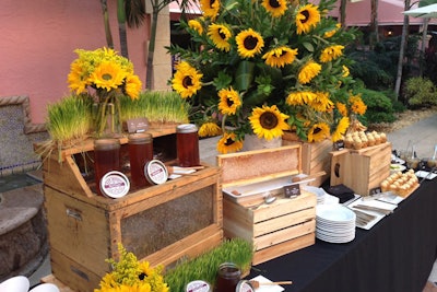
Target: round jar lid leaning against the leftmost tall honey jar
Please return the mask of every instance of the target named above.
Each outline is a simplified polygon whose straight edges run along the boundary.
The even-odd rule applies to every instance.
[[[101,190],[105,197],[118,199],[125,197],[129,189],[129,179],[120,172],[109,172],[101,179]]]

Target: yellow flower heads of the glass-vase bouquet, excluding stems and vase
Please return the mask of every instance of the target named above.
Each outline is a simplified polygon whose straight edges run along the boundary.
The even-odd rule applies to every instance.
[[[109,93],[119,91],[131,98],[138,98],[141,81],[133,73],[133,65],[114,49],[76,49],[79,58],[71,63],[68,83],[75,94],[87,93],[92,87]]]

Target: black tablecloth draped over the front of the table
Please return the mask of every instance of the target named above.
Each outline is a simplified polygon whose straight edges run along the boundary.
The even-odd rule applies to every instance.
[[[421,292],[437,257],[437,179],[355,240],[316,244],[252,267],[247,278],[292,280],[285,291]]]

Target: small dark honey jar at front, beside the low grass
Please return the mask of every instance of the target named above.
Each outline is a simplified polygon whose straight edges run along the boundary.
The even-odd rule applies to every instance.
[[[241,278],[241,271],[234,262],[223,262],[218,266],[214,292],[235,292]]]

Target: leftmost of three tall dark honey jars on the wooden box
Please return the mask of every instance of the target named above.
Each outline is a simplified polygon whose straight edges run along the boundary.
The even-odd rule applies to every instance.
[[[97,139],[94,141],[94,171],[97,195],[104,196],[101,180],[105,174],[120,171],[120,141],[118,139]]]

